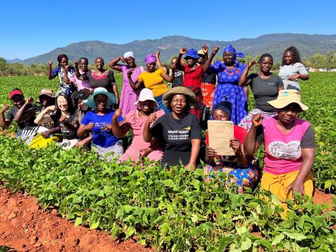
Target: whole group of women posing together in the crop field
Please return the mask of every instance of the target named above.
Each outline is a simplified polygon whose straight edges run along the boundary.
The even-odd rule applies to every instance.
[[[112,69],[123,72],[120,99],[113,71],[104,69],[104,59],[97,57],[96,69],[89,70],[85,57],[71,67],[66,55],[59,55],[59,66],[52,70],[50,61],[48,67],[48,77],[59,78],[56,96],[51,90],[42,90],[36,101],[40,106],[36,106],[31,97],[25,100],[21,90],[12,90],[9,97],[14,106],[6,116],[9,107],[3,106],[0,126],[6,129],[15,120],[18,137],[33,148],[57,141],[63,148],[92,148],[106,160],[147,157],[160,160],[162,167],[195,169],[202,142],[200,120],[206,107],[211,120],[234,123],[230,147],[235,153],[218,155],[207,136],[207,175],[225,172],[235,178],[241,190],[254,188],[261,173],[253,155],[264,144],[261,187],[283,201],[293,190],[312,195],[314,130],[297,118],[297,113],[307,110],[300,101],[298,79],[309,78],[299,52],[293,46],[283,52],[276,76],[271,72],[272,55],[262,55],[260,71],[248,75],[257,62],[241,64],[237,57],[243,55],[228,45],[223,61],[211,64],[218,50],[214,47],[208,56],[206,45],[199,51],[181,48],[168,67],[162,66],[160,52],[144,59],[146,67],[137,66],[133,52],[125,52],[109,62]],[[118,64],[120,61],[123,64]],[[174,78],[179,82],[174,83]],[[172,88],[165,81],[172,83]],[[249,114],[248,85],[255,98],[255,108]],[[132,143],[124,153],[121,139],[130,130]]]

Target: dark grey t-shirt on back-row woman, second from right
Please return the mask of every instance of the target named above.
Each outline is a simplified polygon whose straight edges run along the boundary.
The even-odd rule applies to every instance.
[[[251,73],[247,78],[252,80],[251,90],[255,99],[255,109],[276,112],[276,109],[268,102],[278,97],[278,88],[283,87],[281,78],[273,73],[267,79],[260,78],[257,73]]]

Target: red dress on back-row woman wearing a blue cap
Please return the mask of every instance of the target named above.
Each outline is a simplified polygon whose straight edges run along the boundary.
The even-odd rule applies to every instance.
[[[193,113],[195,116],[197,116],[198,120],[201,119],[202,104],[203,104],[203,97],[201,90],[202,77],[203,77],[202,66],[196,66],[195,69],[190,70],[189,66],[186,65],[184,70],[183,87],[188,87],[196,95],[196,104],[193,107],[193,109],[191,109],[190,113]]]

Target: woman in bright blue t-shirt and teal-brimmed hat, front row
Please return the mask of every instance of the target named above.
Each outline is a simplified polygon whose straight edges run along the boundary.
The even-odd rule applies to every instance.
[[[108,109],[116,104],[114,94],[109,93],[104,87],[97,87],[85,103],[93,110],[85,114],[77,131],[78,137],[83,137],[92,130],[92,150],[108,161],[123,154],[123,142],[112,132],[111,123],[114,111]],[[118,122],[122,120],[120,116]]]

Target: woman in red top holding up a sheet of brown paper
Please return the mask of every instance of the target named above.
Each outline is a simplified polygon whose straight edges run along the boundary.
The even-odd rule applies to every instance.
[[[220,102],[214,106],[212,112],[213,120],[231,120],[232,104],[230,102]],[[260,179],[260,170],[251,164],[253,156],[246,157],[243,151],[243,143],[246,137],[246,130],[237,125],[233,125],[234,139],[230,140],[230,145],[235,151],[233,156],[217,155],[216,150],[209,146],[209,137],[205,139],[207,148],[205,149],[204,172],[209,175],[211,172],[225,172],[233,176],[239,186],[239,192],[244,191],[244,187],[255,188]],[[215,160],[217,159],[217,161]]]

